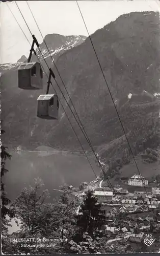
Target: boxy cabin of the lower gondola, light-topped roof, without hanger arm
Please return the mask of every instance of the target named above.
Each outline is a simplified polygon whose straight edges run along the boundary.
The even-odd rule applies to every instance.
[[[40,95],[37,101],[38,117],[43,119],[58,119],[59,100],[56,94]]]

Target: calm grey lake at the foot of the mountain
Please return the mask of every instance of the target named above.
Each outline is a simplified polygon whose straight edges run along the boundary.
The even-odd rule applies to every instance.
[[[34,178],[41,177],[44,189],[50,193],[50,200],[57,195],[53,189],[58,189],[64,183],[78,187],[81,182],[95,180],[95,175],[85,156],[49,149],[48,151],[9,151],[11,160],[7,160],[4,182],[8,198],[13,201],[24,187],[34,184]],[[89,157],[96,175],[100,169],[93,156]],[[10,232],[16,231],[16,225]]]

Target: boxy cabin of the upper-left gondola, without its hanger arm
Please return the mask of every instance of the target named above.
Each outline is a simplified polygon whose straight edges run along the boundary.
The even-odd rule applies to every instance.
[[[24,90],[43,89],[43,72],[39,62],[26,62],[19,66],[18,87]]]

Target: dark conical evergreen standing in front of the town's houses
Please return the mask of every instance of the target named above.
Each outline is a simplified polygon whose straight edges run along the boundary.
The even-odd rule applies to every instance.
[[[90,236],[93,236],[94,231],[104,225],[105,216],[101,214],[100,208],[101,204],[98,204],[93,193],[88,191],[77,216],[77,226],[81,228],[82,234],[88,232]]]

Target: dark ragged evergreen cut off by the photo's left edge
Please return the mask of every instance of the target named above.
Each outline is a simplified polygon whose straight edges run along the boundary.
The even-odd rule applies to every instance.
[[[4,134],[5,131],[1,129],[1,134]],[[7,206],[11,201],[6,196],[5,184],[3,182],[4,175],[8,172],[8,169],[5,168],[6,160],[11,159],[11,155],[6,151],[7,147],[1,144],[1,218],[2,218],[2,233],[5,235],[8,231],[9,220],[6,219],[7,216],[10,218],[14,217],[14,213]]]

